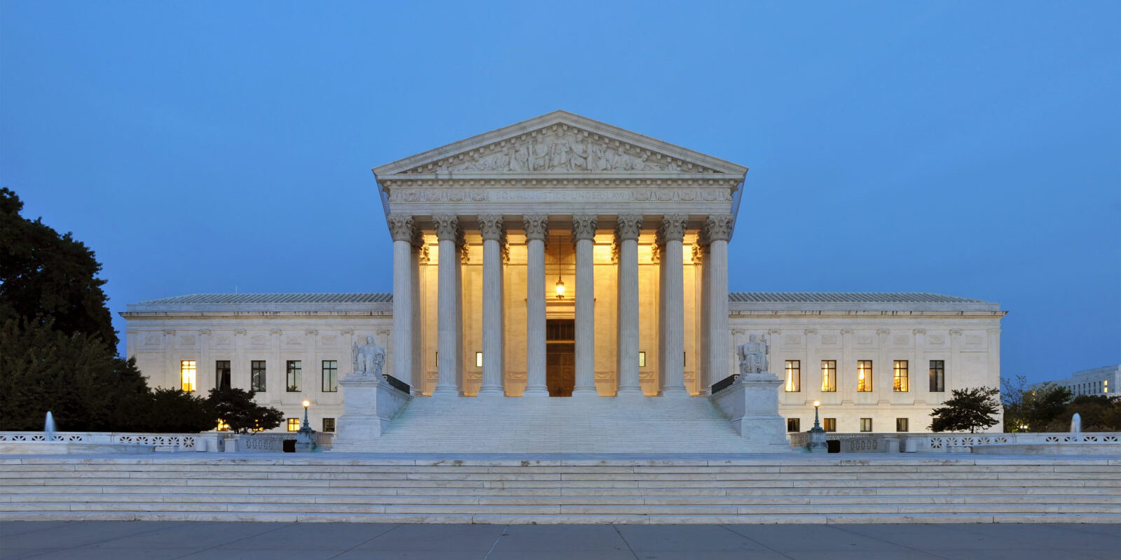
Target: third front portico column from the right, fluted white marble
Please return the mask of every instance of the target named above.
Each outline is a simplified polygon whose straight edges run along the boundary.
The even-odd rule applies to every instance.
[[[641,214],[620,214],[615,225],[619,252],[619,396],[642,394],[638,376],[638,234]]]

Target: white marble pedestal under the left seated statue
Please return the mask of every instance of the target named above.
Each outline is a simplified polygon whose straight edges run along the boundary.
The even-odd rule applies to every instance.
[[[348,375],[343,391],[343,414],[332,451],[374,451],[389,422],[413,400],[380,375]]]

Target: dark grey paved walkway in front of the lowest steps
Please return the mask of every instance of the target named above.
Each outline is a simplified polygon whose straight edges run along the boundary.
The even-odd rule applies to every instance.
[[[21,558],[1117,560],[1121,525],[0,523],[0,559]]]

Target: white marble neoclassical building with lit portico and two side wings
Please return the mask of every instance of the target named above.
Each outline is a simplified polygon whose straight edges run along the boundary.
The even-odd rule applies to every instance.
[[[373,169],[393,240],[391,295],[129,305],[127,352],[156,385],[254,389],[290,418],[308,400],[313,428],[327,431],[368,336],[387,351],[382,373],[409,385],[397,409],[708,401],[740,373],[735,349],[752,335],[768,344],[784,430],[813,426],[819,401],[827,430],[926,431],[952,389],[999,385],[997,304],[730,292],[751,288],[729,274],[730,259],[748,258],[730,249],[747,170],[553,112]]]

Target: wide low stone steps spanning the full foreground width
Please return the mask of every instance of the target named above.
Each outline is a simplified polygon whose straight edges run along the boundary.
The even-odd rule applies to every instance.
[[[1121,459],[9,456],[0,521],[11,520],[1117,523]]]

